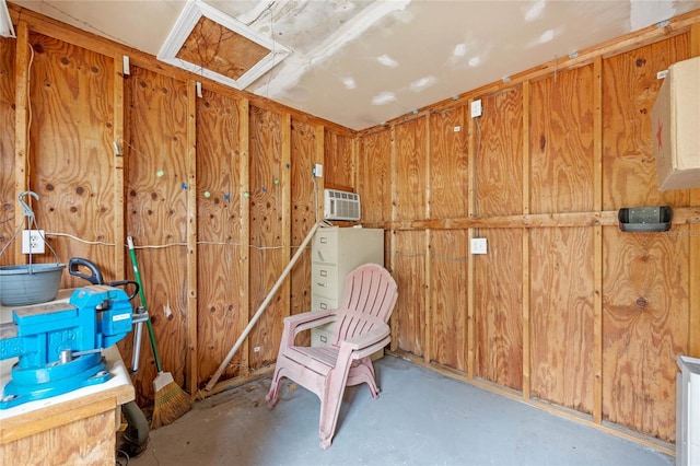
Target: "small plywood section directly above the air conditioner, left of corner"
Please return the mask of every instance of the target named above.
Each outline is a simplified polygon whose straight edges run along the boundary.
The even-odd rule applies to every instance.
[[[326,129],[324,140],[324,178],[326,184],[355,190],[354,138]],[[364,199],[361,201],[363,202]]]

